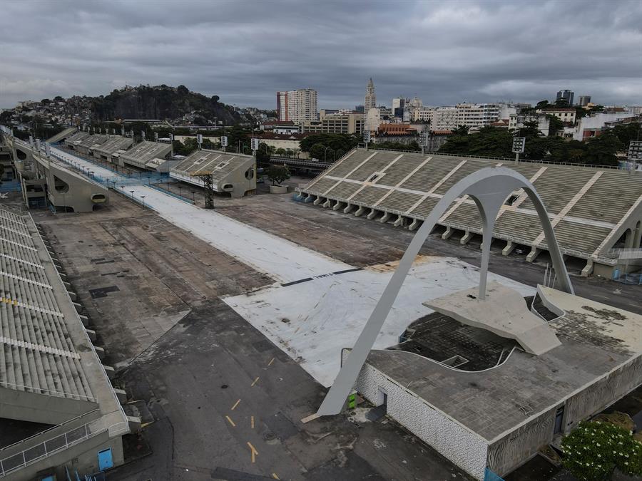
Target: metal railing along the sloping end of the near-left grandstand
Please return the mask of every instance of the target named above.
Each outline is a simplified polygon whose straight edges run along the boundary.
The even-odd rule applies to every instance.
[[[59,428],[60,426],[61,425],[58,425],[52,429]],[[33,440],[34,438],[38,438],[39,436],[46,437],[46,433],[48,432],[49,431],[44,431],[43,433],[39,433],[35,436],[32,436],[31,438],[28,438],[27,440]],[[73,428],[66,431],[65,433],[56,435],[53,438],[46,439],[41,443],[31,446],[31,448],[27,448],[26,450],[22,450],[21,452],[18,452],[14,455],[5,457],[4,459],[0,459],[0,477],[9,475],[11,474],[11,472],[20,470],[23,467],[33,464],[34,462],[38,462],[39,460],[56,454],[56,452],[71,448],[71,446],[73,445],[82,443],[84,440],[88,440],[89,438],[93,438],[102,433],[108,433],[108,435],[111,437],[128,432],[129,427],[125,421],[107,426],[105,418],[93,420],[90,423],[78,426],[78,428]],[[27,440],[23,440],[21,441],[21,443],[24,443]],[[15,445],[11,445],[7,448],[11,448],[12,446]],[[4,448],[4,450],[6,450],[7,448]]]

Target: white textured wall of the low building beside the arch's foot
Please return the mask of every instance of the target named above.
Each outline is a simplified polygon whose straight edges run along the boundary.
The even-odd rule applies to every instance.
[[[478,480],[484,479],[487,443],[444,413],[435,410],[366,363],[357,378],[357,391],[377,404],[379,388],[387,391],[387,413],[444,457]]]

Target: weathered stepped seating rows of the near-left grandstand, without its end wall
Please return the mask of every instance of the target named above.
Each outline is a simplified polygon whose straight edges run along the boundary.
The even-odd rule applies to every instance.
[[[29,232],[21,217],[6,210],[0,210],[0,216]],[[91,398],[34,239],[13,231],[3,234],[9,235],[0,239],[0,387]]]

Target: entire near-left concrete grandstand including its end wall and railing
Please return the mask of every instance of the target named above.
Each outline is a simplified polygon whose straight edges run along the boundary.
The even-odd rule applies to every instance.
[[[131,419],[57,269],[31,217],[0,209],[0,415],[54,425],[2,447],[0,478],[34,479],[73,458],[93,469],[103,449],[123,461]]]

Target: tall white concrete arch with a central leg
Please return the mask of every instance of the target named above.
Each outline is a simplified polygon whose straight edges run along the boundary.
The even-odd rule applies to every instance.
[[[390,309],[392,309],[392,304],[394,300],[397,299],[399,289],[401,289],[404,279],[412,267],[412,262],[414,258],[417,257],[417,254],[419,254],[419,249],[422,248],[422,245],[428,238],[430,232],[432,232],[439,218],[442,217],[442,214],[446,212],[457,197],[461,197],[462,195],[472,197],[481,214],[484,246],[481,250],[479,298],[485,299],[486,278],[488,277],[488,262],[495,219],[506,197],[509,197],[512,192],[519,188],[524,189],[535,206],[544,230],[544,235],[546,236],[546,244],[548,244],[561,289],[574,294],[571,279],[569,278],[568,271],[566,271],[564,259],[562,258],[559,244],[557,243],[555,232],[549,219],[549,214],[546,212],[544,202],[542,202],[541,197],[539,197],[531,182],[523,175],[506,167],[486,167],[477,172],[473,172],[471,175],[457,182],[457,184],[444,194],[432,212],[430,212],[422,224],[422,227],[419,227],[419,230],[417,230],[417,234],[414,235],[401,261],[399,261],[399,267],[394,271],[392,279],[390,279],[381,298],[374,307],[370,319],[368,319],[365,324],[355,346],[352,348],[352,351],[350,351],[337,378],[335,378],[335,382],[332,384],[330,391],[325,396],[319,410],[317,410],[317,415],[334,415],[341,412],[345,400],[352,390],[352,386],[354,386],[357,381],[357,376],[359,376],[359,372],[366,361],[368,353],[370,353],[372,346],[374,346],[374,341],[376,341],[379,331],[381,331],[384,321]]]

